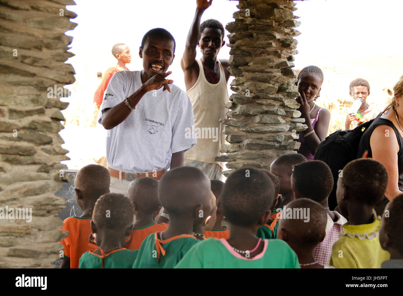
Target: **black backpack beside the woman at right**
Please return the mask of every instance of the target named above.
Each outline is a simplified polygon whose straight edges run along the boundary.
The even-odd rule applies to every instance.
[[[328,198],[331,211],[337,207],[336,189],[339,174],[346,164],[357,159],[359,141],[372,121],[374,120],[359,124],[352,130],[337,130],[327,136],[316,149],[314,160],[326,162],[333,175],[333,190]]]

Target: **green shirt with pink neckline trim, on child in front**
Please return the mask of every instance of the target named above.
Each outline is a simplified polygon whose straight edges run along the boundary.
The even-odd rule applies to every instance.
[[[246,259],[223,238],[193,246],[175,268],[300,268],[297,254],[283,240],[262,240],[262,253]]]

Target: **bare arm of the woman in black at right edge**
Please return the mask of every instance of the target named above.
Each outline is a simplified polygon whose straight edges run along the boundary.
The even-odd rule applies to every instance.
[[[399,143],[395,135],[393,128],[388,125],[380,125],[374,129],[370,138],[372,158],[381,162],[388,170],[389,179],[385,196],[390,201],[402,193],[398,186],[397,152]]]

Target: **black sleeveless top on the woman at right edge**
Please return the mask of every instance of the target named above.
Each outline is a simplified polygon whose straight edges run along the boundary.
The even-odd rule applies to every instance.
[[[395,124],[388,119],[381,118],[381,114],[379,114],[372,124],[364,131],[364,134],[361,137],[361,141],[358,146],[358,158],[361,158],[366,150],[368,150],[368,157],[372,157],[372,150],[370,146],[370,138],[374,129],[382,124],[388,125],[395,131],[395,135],[397,137],[397,142],[399,143],[399,152],[397,152],[397,169],[399,173],[399,181],[398,186],[399,190],[403,191],[403,138],[399,133],[399,130],[395,127]],[[393,134],[390,135],[393,137]]]

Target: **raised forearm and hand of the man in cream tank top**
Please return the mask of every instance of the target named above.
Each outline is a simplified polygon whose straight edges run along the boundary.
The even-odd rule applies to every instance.
[[[212,4],[213,0],[196,0],[196,12],[193,18],[193,23],[190,27],[189,33],[187,34],[185,52],[181,58],[181,67],[183,71],[186,71],[196,59],[196,46],[199,41],[200,34],[200,19],[202,19],[202,14]]]

